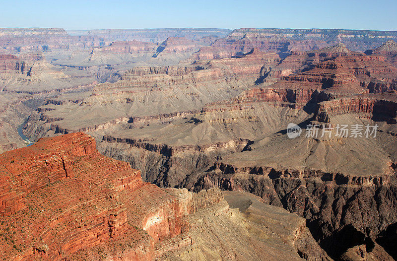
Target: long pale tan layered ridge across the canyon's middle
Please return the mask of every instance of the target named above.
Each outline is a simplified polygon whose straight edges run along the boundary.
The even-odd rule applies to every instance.
[[[28,128],[38,129],[38,124],[44,124],[40,132],[51,130],[66,133],[87,130],[82,128],[92,130],[95,126],[107,123],[111,127],[114,125],[111,124],[113,120],[127,122],[132,116],[196,111],[205,103],[236,96],[255,83],[264,67],[277,63],[275,54],[254,50],[241,57],[216,61],[133,68],[115,83],[96,85],[92,94],[80,104],[68,103],[71,107],[78,108],[81,118],[69,118],[67,112],[62,112],[66,104],[48,104],[45,106],[47,109],[40,110],[40,115],[32,115]],[[108,109],[103,110],[103,106]],[[104,113],[92,117],[92,114],[99,111]],[[41,120],[33,122],[33,119]],[[87,126],[84,119],[90,119],[90,126]],[[45,135],[44,132],[36,132],[36,135]]]

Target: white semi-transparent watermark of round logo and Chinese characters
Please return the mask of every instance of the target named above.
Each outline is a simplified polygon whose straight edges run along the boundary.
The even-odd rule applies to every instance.
[[[378,125],[347,125],[347,124],[337,124],[336,126],[325,125],[325,124],[309,124],[306,126],[305,137],[307,138],[357,138],[357,137],[376,137],[378,130]],[[287,126],[287,135],[289,138],[296,138],[300,136],[302,129],[293,123]]]

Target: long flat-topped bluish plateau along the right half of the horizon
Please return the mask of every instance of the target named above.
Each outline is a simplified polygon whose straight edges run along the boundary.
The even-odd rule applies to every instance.
[[[230,57],[258,48],[263,52],[276,52],[282,55],[290,51],[309,51],[345,44],[350,50],[364,52],[373,49],[387,40],[397,40],[396,32],[339,30],[339,29],[235,29],[227,37],[203,47],[195,55],[196,59]]]

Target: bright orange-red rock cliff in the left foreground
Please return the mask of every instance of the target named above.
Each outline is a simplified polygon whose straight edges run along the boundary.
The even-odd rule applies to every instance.
[[[43,138],[0,155],[0,258],[151,260],[154,243],[189,230],[189,213],[223,199],[208,194],[187,200],[143,183],[87,134]]]

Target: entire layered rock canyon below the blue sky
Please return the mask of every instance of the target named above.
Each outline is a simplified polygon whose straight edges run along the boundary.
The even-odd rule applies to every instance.
[[[4,259],[397,259],[396,32],[0,32]]]

